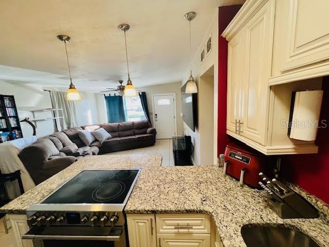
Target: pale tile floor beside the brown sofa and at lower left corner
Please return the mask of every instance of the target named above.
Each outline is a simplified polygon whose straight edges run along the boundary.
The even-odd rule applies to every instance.
[[[172,139],[159,139],[156,140],[155,145],[152,147],[119,151],[111,154],[143,154],[143,153],[160,154],[162,156],[161,166],[164,167],[174,166]],[[3,219],[0,219],[0,245],[6,247],[16,247],[13,241],[11,228],[9,229],[8,234],[5,233]]]

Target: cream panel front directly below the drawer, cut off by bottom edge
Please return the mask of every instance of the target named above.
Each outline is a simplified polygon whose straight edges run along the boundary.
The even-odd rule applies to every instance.
[[[158,234],[158,247],[209,247],[210,234]]]

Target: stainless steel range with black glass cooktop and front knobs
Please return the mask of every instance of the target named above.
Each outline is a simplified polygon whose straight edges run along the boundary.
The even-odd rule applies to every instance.
[[[84,170],[27,210],[35,245],[126,246],[124,206],[140,169]]]

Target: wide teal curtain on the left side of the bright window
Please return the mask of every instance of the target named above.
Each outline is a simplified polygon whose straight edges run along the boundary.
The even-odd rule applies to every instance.
[[[106,104],[106,115],[107,115],[108,122],[124,122],[125,121],[122,96],[120,96],[120,95],[105,96],[105,104]]]

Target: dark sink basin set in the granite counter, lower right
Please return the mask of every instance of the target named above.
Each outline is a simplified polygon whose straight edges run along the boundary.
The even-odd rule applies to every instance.
[[[320,247],[302,232],[283,225],[247,224],[241,234],[247,247]]]

